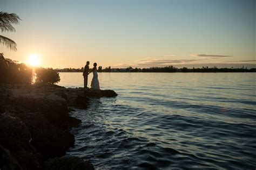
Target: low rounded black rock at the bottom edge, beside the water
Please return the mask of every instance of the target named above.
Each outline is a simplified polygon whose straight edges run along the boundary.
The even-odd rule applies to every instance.
[[[50,159],[44,163],[45,170],[93,170],[92,164],[78,157],[63,157]]]

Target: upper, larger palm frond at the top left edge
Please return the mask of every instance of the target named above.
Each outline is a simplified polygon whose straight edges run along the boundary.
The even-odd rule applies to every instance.
[[[5,31],[15,31],[15,28],[12,26],[12,24],[18,24],[19,16],[17,16],[15,13],[8,13],[8,12],[0,12],[0,29],[2,32]]]

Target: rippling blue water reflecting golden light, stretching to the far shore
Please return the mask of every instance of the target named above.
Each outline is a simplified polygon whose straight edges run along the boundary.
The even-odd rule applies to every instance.
[[[60,86],[83,87],[82,73]],[[91,80],[91,77],[89,77]],[[102,89],[71,115],[69,155],[96,169],[255,169],[255,73],[99,73]]]

